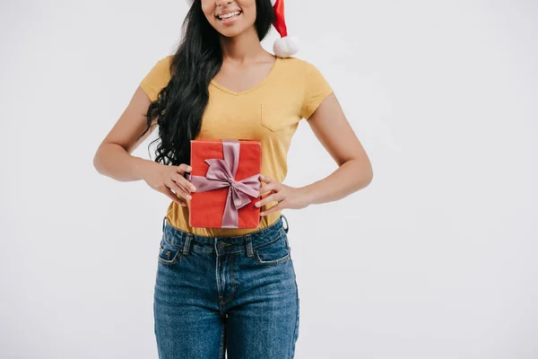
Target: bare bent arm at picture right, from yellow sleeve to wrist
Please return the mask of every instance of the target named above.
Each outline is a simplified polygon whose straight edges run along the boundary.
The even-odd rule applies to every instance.
[[[368,186],[373,178],[369,157],[334,93],[308,118],[308,124],[339,166],[325,179],[299,188],[308,204],[335,201]]]

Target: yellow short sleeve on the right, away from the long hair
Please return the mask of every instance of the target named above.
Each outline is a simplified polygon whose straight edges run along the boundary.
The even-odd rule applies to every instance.
[[[333,88],[326,81],[325,76],[313,64],[305,61],[305,92],[300,117],[308,119],[319,107],[321,102],[333,92]]]

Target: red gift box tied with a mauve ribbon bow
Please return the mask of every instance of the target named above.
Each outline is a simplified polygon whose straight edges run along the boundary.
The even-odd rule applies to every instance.
[[[189,225],[256,228],[260,223],[262,145],[256,140],[192,140]]]

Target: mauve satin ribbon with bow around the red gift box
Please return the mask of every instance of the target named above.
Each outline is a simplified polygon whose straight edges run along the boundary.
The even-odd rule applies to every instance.
[[[262,185],[259,180],[260,173],[244,180],[235,180],[239,167],[239,146],[239,140],[222,140],[223,160],[220,158],[205,160],[209,164],[205,176],[187,174],[187,180],[195,185],[196,192],[229,188],[221,228],[239,228],[239,209],[251,202],[249,196],[260,195]]]

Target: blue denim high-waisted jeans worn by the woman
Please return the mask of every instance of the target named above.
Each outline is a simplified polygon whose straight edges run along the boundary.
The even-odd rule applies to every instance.
[[[153,306],[160,359],[293,358],[299,291],[282,218],[234,237],[198,236],[164,218]]]

